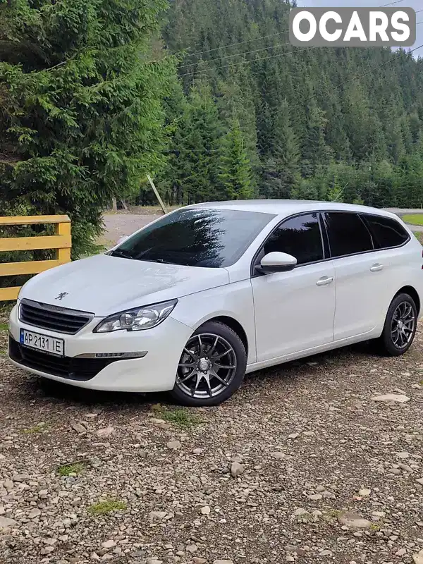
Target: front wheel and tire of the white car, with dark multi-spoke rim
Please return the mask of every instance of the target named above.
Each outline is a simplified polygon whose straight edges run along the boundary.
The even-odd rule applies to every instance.
[[[219,405],[238,390],[246,367],[240,336],[219,321],[207,321],[183,349],[171,396],[180,405]]]

